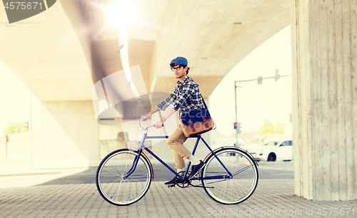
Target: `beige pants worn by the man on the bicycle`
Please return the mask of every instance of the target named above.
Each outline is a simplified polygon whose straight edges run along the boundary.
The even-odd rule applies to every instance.
[[[175,133],[170,135],[167,139],[167,145],[169,145],[174,152],[175,164],[177,169],[185,167],[185,161],[187,157],[191,155],[191,152],[183,146],[183,142],[186,142],[187,137],[183,134],[181,127],[178,125]]]

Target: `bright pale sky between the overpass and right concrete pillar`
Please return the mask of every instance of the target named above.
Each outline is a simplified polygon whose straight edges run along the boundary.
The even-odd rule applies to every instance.
[[[292,68],[290,26],[276,33],[258,46],[238,63],[209,97],[209,110],[217,124],[218,132],[223,135],[235,133],[234,81],[245,81],[274,77],[278,73],[288,75],[275,79],[236,83],[238,123],[245,132],[258,130],[266,120],[269,123],[290,123],[292,109]]]

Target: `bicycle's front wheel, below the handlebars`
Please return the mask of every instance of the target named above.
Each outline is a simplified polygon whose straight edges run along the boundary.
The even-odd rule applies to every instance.
[[[124,179],[137,156],[137,151],[121,149],[101,161],[96,172],[96,187],[107,202],[118,206],[133,204],[149,190],[152,172],[144,155],[140,155],[135,171]]]

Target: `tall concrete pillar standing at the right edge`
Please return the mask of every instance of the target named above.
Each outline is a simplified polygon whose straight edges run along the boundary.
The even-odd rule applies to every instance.
[[[295,193],[357,199],[357,1],[291,1]]]

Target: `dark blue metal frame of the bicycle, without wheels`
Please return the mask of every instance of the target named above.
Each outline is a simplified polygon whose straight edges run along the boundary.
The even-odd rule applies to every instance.
[[[124,177],[124,180],[129,177],[136,169],[136,165],[138,164],[139,162],[139,158],[141,156],[141,152],[143,150],[143,148],[149,152],[153,157],[156,158],[156,160],[159,160],[159,162],[161,162],[161,164],[163,164],[167,169],[169,169],[171,172],[174,173],[174,175],[176,175],[177,177],[179,177],[181,180],[186,180],[186,175],[187,175],[187,172],[188,172],[188,169],[191,165],[191,162],[188,162],[188,165],[186,167],[186,171],[184,172],[183,176],[181,175],[178,175],[178,173],[173,170],[169,165],[166,164],[166,162],[164,162],[163,160],[160,159],[160,157],[156,156],[154,154],[154,152],[152,152],[151,150],[149,150],[149,148],[145,147],[144,145],[144,142],[146,139],[159,139],[159,138],[168,138],[169,136],[148,136],[147,135],[147,132],[144,133],[144,136],[143,136],[143,139],[141,140],[141,144],[139,146],[139,155],[137,155],[135,158],[134,158],[134,162],[133,162],[133,165],[131,165],[131,168],[128,170],[126,176]],[[195,178],[191,178],[190,180],[216,180],[216,179],[229,179],[229,178],[233,178],[233,175],[231,174],[231,172],[229,172],[229,170],[226,168],[225,165],[223,165],[223,163],[221,162],[221,160],[219,160],[219,158],[217,157],[216,153],[213,152],[213,150],[211,149],[211,147],[209,147],[209,145],[207,144],[207,142],[203,139],[203,137],[201,137],[201,135],[196,135],[196,136],[193,136],[193,137],[196,137],[197,140],[196,140],[196,144],[195,144],[195,147],[193,147],[193,151],[192,151],[192,155],[195,154],[196,152],[196,148],[198,146],[198,142],[200,140],[202,140],[202,142],[206,145],[206,147],[208,148],[208,150],[210,150],[210,152],[216,157],[216,159],[218,160],[218,162],[222,165],[222,167],[224,168],[224,170],[226,170],[226,172],[228,173],[228,175],[221,175],[221,176],[211,176],[211,177],[195,177]]]

